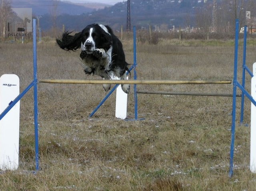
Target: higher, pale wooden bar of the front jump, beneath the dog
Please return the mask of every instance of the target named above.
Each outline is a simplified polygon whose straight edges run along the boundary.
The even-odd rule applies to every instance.
[[[231,84],[231,80],[74,80],[42,79],[38,83],[62,84]]]

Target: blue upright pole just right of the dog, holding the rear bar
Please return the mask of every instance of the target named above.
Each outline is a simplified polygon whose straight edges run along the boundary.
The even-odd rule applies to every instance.
[[[133,65],[134,65],[134,80],[137,79],[136,73],[136,26],[133,26]],[[134,119],[138,120],[138,99],[137,99],[137,85],[134,84]]]

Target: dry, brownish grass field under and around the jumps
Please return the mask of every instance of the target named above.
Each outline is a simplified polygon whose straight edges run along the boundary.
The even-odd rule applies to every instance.
[[[256,61],[255,40],[247,64]],[[132,41],[123,41],[133,62]],[[79,52],[54,41],[38,44],[39,79],[87,77]],[[241,80],[242,43],[239,47]],[[232,79],[233,41],[160,39],[138,44],[138,79]],[[0,75],[20,77],[21,91],[32,81],[32,43],[0,43]],[[250,78],[246,87],[250,89]],[[131,77],[133,75],[131,74]],[[138,90],[232,93],[232,85],[138,85]],[[240,93],[238,91],[238,93]],[[33,94],[20,104],[20,167],[0,174],[0,190],[88,191],[254,191],[250,163],[250,102],[244,122],[237,119],[234,176],[228,177],[231,97],[138,95],[139,121],[115,118],[115,96],[88,118],[106,95],[101,85],[39,84],[40,171],[35,169]],[[133,91],[128,118],[134,116]],[[240,114],[240,98],[237,104]]]

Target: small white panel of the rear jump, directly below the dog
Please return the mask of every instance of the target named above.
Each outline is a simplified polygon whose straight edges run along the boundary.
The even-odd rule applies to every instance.
[[[120,80],[114,76],[112,79]],[[128,79],[128,76],[127,76]],[[127,116],[127,93],[124,93],[121,85],[116,88],[116,118],[125,119]]]

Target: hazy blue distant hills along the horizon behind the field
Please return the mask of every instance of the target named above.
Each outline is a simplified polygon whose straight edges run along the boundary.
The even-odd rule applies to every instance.
[[[200,17],[212,17],[212,1],[213,0],[131,0],[131,23],[132,26],[136,25],[137,29],[148,29],[150,25],[153,30],[159,28],[159,30],[162,31],[172,29],[174,26],[175,28],[179,26],[196,26],[196,20],[198,20],[198,17],[196,18],[197,12],[201,12]],[[218,9],[222,10],[222,8],[225,8],[226,11],[222,11],[223,20],[233,15],[233,1],[230,0],[230,3],[226,4],[226,0],[217,0]],[[245,0],[245,2],[249,1],[252,0]],[[53,3],[55,1],[33,1],[35,5],[42,2],[48,2],[49,5],[50,2]],[[64,5],[62,6],[62,4]],[[95,6],[100,7],[99,5]],[[102,6],[102,9],[98,10],[95,9],[95,6],[90,6],[89,8],[88,4],[81,5],[59,2],[57,5],[57,12],[59,13],[56,18],[57,27],[62,28],[64,24],[68,30],[79,31],[88,24],[100,23],[111,26],[114,31],[120,30],[122,25],[124,26],[124,30],[126,29],[127,1],[116,3],[114,6],[104,6],[104,8],[102,8]],[[46,5],[45,7],[47,8]],[[73,14],[71,14],[71,12]],[[202,14],[202,12],[204,12],[204,14]],[[204,21],[206,20],[205,18],[203,19]],[[40,20],[42,30],[49,30],[52,27],[51,22],[50,13],[45,14]]]

